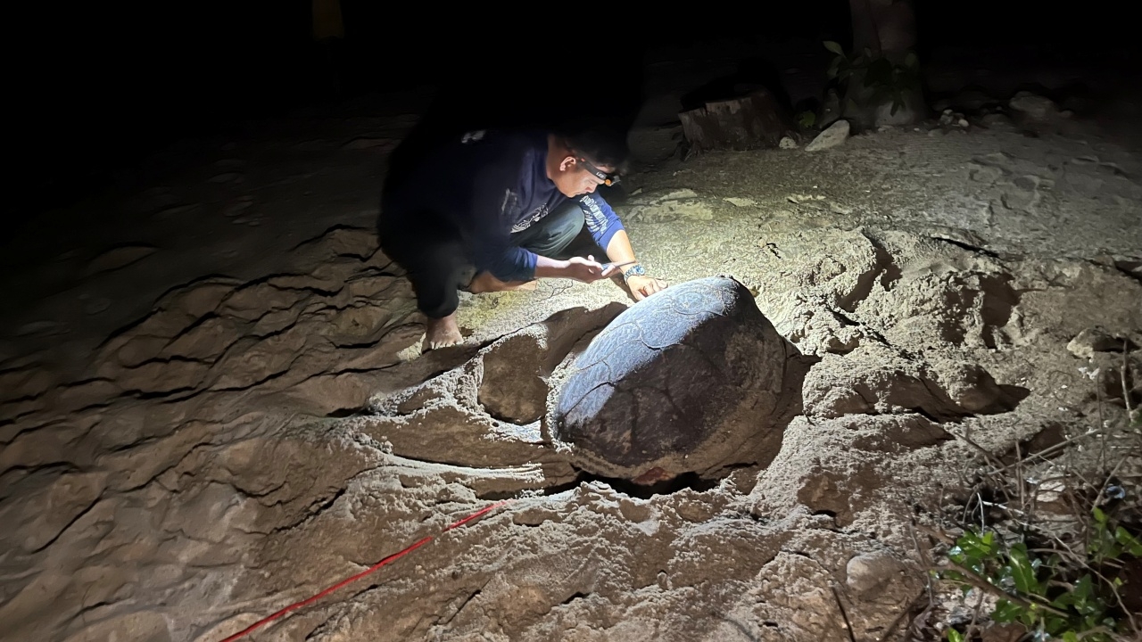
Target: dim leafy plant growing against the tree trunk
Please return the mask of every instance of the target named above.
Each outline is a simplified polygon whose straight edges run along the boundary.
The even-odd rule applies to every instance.
[[[909,51],[903,61],[894,63],[871,49],[846,54],[841,43],[825,41],[825,48],[836,55],[829,65],[829,78],[849,87],[856,79],[869,91],[867,101],[879,105],[892,102],[892,114],[907,105],[909,96],[920,88],[920,63]],[[853,95],[849,91],[850,96]],[[852,99],[852,98],[850,98]]]

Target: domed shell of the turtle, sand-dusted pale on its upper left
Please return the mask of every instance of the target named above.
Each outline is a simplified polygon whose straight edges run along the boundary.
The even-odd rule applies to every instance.
[[[775,336],[733,279],[662,290],[617,316],[578,358],[554,435],[626,467],[693,452],[748,395],[758,368],[772,367]]]

